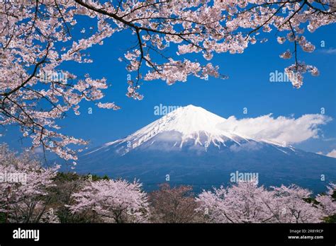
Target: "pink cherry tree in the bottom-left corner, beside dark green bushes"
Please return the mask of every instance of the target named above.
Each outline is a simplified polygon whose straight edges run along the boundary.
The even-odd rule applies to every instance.
[[[58,222],[48,207],[58,168],[43,168],[28,151],[16,156],[7,146],[0,146],[0,212],[6,222]]]

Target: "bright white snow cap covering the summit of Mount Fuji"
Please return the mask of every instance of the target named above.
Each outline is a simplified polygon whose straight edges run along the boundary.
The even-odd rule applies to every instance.
[[[223,131],[218,125],[226,119],[208,112],[202,107],[188,105],[178,107],[177,110],[169,112],[155,122],[148,124],[146,127],[135,131],[135,133],[111,143],[112,144],[128,143],[133,148],[140,146],[142,143],[152,139],[158,134],[177,132],[180,134],[180,141],[176,142],[180,147],[186,141],[194,141],[194,144],[207,146],[213,143],[220,147],[225,145],[225,141],[232,140],[239,144],[238,139],[244,139],[233,132]],[[169,134],[168,134],[169,136]],[[246,139],[245,139],[246,140]]]

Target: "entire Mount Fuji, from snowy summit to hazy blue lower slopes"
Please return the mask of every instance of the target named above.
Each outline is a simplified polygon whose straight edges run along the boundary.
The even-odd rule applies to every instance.
[[[294,183],[323,192],[336,180],[336,158],[225,131],[219,117],[189,105],[123,139],[79,156],[76,171],[139,179],[145,189],[169,181],[194,189],[228,185],[233,173],[257,173],[262,185]]]

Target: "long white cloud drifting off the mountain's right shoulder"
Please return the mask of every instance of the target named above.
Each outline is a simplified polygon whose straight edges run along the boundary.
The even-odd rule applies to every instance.
[[[284,116],[275,118],[271,114],[245,119],[231,116],[218,127],[256,140],[296,144],[310,138],[317,139],[320,125],[327,124],[331,119],[325,115],[303,115],[297,119]]]

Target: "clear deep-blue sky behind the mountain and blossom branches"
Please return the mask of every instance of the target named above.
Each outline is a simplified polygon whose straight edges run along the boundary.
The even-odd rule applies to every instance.
[[[191,76],[186,83],[179,82],[172,86],[163,81],[144,81],[140,93],[145,98],[136,101],[125,96],[128,71],[125,64],[118,61],[118,57],[134,45],[135,37],[128,33],[117,33],[105,40],[104,45],[89,49],[93,64],[67,64],[65,69],[81,75],[89,73],[93,78],[106,77],[112,86],[105,91],[103,102],[116,102],[121,110],[99,109],[93,102],[84,102],[81,115],[70,113],[60,122],[62,133],[82,137],[90,140],[91,146],[98,146],[131,134],[158,119],[160,116],[154,114],[154,107],[159,104],[192,104],[221,117],[235,115],[238,119],[269,113],[274,117],[301,117],[318,114],[320,108],[324,107],[325,115],[332,117],[332,122],[320,127],[322,132],[319,139],[309,139],[296,146],[306,151],[330,152],[336,148],[335,36],[336,25],[306,34],[316,50],[306,53],[299,48],[298,57],[306,64],[317,66],[320,76],[306,74],[300,89],[293,88],[291,83],[269,82],[271,72],[284,71],[286,66],[293,63],[293,59],[279,58],[279,54],[286,49],[293,49],[293,44],[285,42],[279,45],[275,33],[270,33],[267,34],[268,42],[250,45],[243,54],[215,54],[212,62],[220,65],[220,72],[229,76],[227,80],[209,78],[203,81]],[[320,47],[321,41],[325,42],[325,47]],[[92,115],[88,114],[88,107],[93,108]],[[247,115],[243,114],[244,107],[247,107]],[[26,141],[21,143],[20,136],[16,127],[10,127],[0,140],[20,149],[28,145]]]

